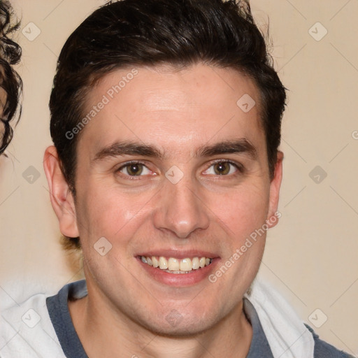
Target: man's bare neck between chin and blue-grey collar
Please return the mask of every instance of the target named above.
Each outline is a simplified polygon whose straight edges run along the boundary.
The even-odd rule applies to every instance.
[[[90,292],[91,293],[91,292]],[[88,357],[244,358],[250,349],[252,327],[243,301],[214,327],[194,336],[162,336],[134,322],[92,296],[69,301],[73,325]]]

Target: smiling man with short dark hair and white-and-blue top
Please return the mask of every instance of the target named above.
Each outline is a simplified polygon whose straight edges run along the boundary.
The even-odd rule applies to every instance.
[[[3,313],[1,357],[348,357],[254,282],[284,106],[248,3],[88,17],[59,56],[44,160],[86,280]]]

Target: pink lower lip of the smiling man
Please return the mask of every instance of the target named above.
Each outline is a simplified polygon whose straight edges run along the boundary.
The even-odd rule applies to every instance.
[[[145,269],[145,271],[147,271],[147,273],[152,276],[152,278],[164,283],[165,285],[176,287],[192,286],[196,285],[202,280],[208,280],[208,275],[214,271],[217,262],[220,261],[220,259],[217,257],[213,259],[210,265],[198,268],[197,270],[189,271],[189,273],[168,273],[164,270],[161,270],[160,268],[155,268],[145,264],[142,262],[140,257],[137,257],[136,259],[138,260],[138,263],[141,264],[141,266]]]

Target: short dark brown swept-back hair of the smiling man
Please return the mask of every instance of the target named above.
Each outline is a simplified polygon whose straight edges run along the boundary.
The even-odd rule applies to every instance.
[[[261,120],[273,176],[285,87],[244,0],[122,0],[94,11],[71,34],[57,62],[50,97],[52,141],[76,196],[76,144],[66,136],[83,118],[87,94],[110,71],[128,66],[201,62],[249,76],[261,94]],[[72,242],[79,245],[78,238]]]

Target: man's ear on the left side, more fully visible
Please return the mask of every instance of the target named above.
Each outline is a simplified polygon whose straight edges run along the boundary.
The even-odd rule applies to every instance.
[[[73,194],[62,173],[57,150],[54,146],[45,150],[43,169],[48,179],[52,208],[59,220],[59,229],[62,235],[76,238],[79,233]]]

